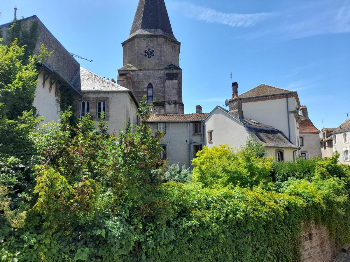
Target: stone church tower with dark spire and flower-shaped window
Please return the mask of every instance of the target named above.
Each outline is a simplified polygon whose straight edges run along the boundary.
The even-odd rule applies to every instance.
[[[131,89],[139,101],[146,95],[154,114],[183,114],[180,42],[164,0],[139,0],[130,35],[122,45],[118,84]]]

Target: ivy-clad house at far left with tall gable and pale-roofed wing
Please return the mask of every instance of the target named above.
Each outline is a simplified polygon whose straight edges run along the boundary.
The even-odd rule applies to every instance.
[[[44,116],[45,122],[58,122],[61,110],[71,105],[76,117],[90,113],[96,123],[104,111],[111,133],[123,129],[123,121],[137,123],[138,101],[130,89],[80,67],[36,15],[16,22],[20,26],[19,36],[33,36],[31,54],[39,54],[42,43],[47,50],[54,51],[40,67],[33,103],[39,117]],[[0,26],[0,35],[7,44],[11,25]]]

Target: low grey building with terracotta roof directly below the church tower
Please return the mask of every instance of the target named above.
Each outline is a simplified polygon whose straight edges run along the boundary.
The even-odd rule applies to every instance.
[[[192,168],[191,161],[205,145],[204,118],[202,107],[196,106],[196,114],[152,114],[148,125],[165,133],[160,141],[163,148],[161,157],[169,163],[179,163]]]

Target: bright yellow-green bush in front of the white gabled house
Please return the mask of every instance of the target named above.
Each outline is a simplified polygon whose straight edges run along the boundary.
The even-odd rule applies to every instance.
[[[235,152],[227,145],[204,146],[192,161],[195,166],[192,170],[193,180],[201,182],[204,187],[240,185],[252,188],[254,185],[267,185],[271,182],[273,157],[257,155],[256,147],[255,143],[250,143]]]

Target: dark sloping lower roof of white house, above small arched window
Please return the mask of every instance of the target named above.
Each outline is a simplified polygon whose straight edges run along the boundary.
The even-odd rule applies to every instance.
[[[279,130],[266,130],[260,128],[246,127],[250,136],[266,147],[281,148],[299,148],[288,140],[288,138]]]

